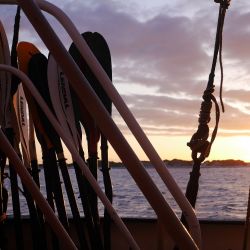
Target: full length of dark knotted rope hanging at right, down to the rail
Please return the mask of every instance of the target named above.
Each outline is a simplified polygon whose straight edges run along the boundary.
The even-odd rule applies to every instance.
[[[211,146],[215,140],[219,120],[220,120],[220,108],[217,103],[216,98],[213,95],[214,92],[214,76],[215,76],[215,68],[217,57],[219,54],[219,61],[220,61],[220,69],[221,69],[221,81],[220,81],[220,100],[222,111],[224,112],[224,105],[222,102],[222,83],[223,83],[223,67],[222,67],[222,31],[224,25],[224,19],[226,10],[229,7],[230,0],[215,0],[216,3],[220,3],[219,8],[219,16],[218,16],[218,24],[217,24],[217,32],[216,32],[216,39],[215,39],[215,46],[214,46],[214,55],[213,55],[213,62],[211,67],[211,72],[209,74],[207,87],[203,93],[203,101],[201,103],[200,114],[199,114],[199,125],[197,131],[192,136],[190,142],[187,145],[192,150],[192,158],[193,158],[193,168],[190,173],[190,178],[187,184],[186,189],[186,197],[190,204],[195,207],[197,194],[199,190],[199,177],[200,177],[200,166],[201,163],[208,157]],[[209,137],[209,126],[208,123],[211,120],[210,114],[211,109],[215,105],[215,127],[211,135],[210,142],[208,141]],[[185,221],[184,214],[182,214],[181,221],[184,223],[186,227],[187,223]],[[175,247],[174,250],[177,250],[178,247]]]

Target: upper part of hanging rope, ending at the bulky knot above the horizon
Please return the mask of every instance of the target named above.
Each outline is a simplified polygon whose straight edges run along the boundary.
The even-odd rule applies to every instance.
[[[221,80],[220,80],[220,102],[222,111],[224,112],[224,104],[222,101],[222,86],[223,86],[223,63],[222,63],[222,32],[224,26],[224,19],[226,10],[229,7],[230,0],[215,0],[216,3],[220,3],[219,15],[218,15],[218,24],[216,31],[216,39],[214,46],[214,55],[212,61],[212,67],[208,78],[207,87],[203,93],[203,101],[201,103],[200,114],[199,114],[199,125],[196,133],[192,136],[190,142],[187,145],[192,150],[192,158],[195,162],[203,162],[206,157],[209,156],[211,146],[215,140],[219,120],[220,120],[220,108],[217,103],[216,98],[213,95],[214,92],[214,77],[215,77],[215,68],[217,63],[217,57],[219,54],[219,63],[221,71]],[[209,127],[208,123],[211,120],[210,114],[212,109],[212,104],[215,105],[215,127],[211,135],[210,142],[208,141],[209,137]]]

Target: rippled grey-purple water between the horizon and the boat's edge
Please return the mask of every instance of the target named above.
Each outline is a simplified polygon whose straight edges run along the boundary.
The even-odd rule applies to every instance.
[[[184,191],[188,182],[190,168],[169,168],[176,182]],[[180,214],[178,206],[174,202],[172,196],[167,191],[164,183],[161,181],[157,173],[152,168],[147,171],[157,183],[162,194],[169,202],[171,207],[177,214]],[[111,170],[111,178],[114,192],[114,207],[121,217],[139,217],[139,218],[155,218],[154,211],[135,185],[126,169],[113,168]],[[41,171],[42,175],[42,171]],[[102,185],[102,173],[99,172],[99,182]],[[74,178],[74,170],[70,168],[70,176],[74,185],[76,197],[80,202],[76,181]],[[247,199],[250,185],[250,168],[244,167],[228,167],[228,168],[202,168],[200,177],[200,189],[197,199],[197,214],[200,219],[209,220],[244,220],[247,210]],[[6,186],[9,183],[6,182]],[[63,186],[63,185],[62,185]],[[42,184],[42,192],[45,193],[44,184]],[[66,195],[65,195],[66,197]],[[9,197],[9,202],[11,197]],[[22,214],[27,215],[25,199],[21,195]],[[65,198],[65,205],[68,214],[71,215],[68,201]],[[103,214],[103,206],[100,203],[100,214]],[[81,206],[79,203],[79,208]],[[12,214],[12,205],[9,204],[8,214]]]

